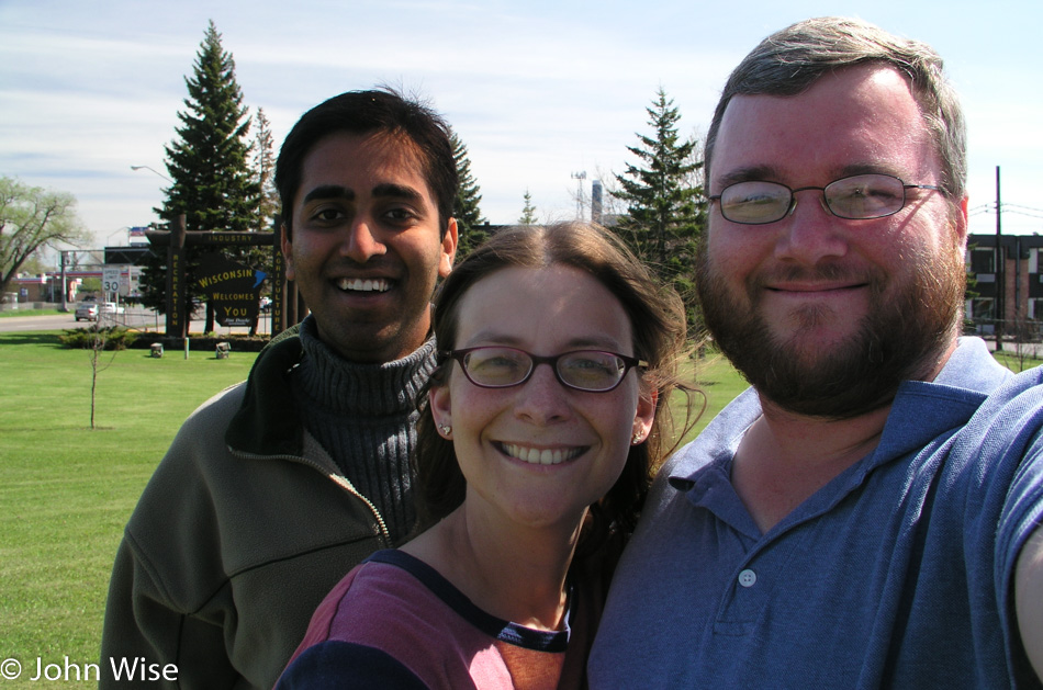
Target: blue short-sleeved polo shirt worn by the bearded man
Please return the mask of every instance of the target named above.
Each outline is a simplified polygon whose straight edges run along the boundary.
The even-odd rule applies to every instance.
[[[961,339],[876,450],[763,534],[731,485],[761,414],[743,393],[657,479],[591,687],[1041,687],[1012,602],[1043,516],[1041,380]]]

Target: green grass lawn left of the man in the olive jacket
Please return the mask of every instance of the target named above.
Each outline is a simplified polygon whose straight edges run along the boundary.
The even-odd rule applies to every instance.
[[[145,483],[189,412],[255,358],[119,352],[91,430],[87,352],[57,333],[0,333],[0,659],[24,669],[4,688],[37,685],[36,657],[97,661],[112,559]]]

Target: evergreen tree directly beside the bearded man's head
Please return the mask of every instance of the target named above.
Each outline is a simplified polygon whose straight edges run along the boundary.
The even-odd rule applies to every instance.
[[[638,146],[627,150],[638,165],[627,165],[616,176],[619,189],[614,195],[627,205],[617,230],[665,283],[684,298],[689,326],[697,326],[694,299],[694,256],[706,224],[705,197],[699,184],[702,160],[696,160],[696,142],[677,134],[681,114],[660,88],[648,124],[653,134],[638,134]],[[641,167],[639,167],[641,166]]]

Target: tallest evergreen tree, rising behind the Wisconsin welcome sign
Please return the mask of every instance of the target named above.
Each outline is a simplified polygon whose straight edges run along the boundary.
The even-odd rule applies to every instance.
[[[186,110],[178,112],[181,125],[178,138],[166,146],[167,172],[173,183],[166,190],[167,199],[156,213],[167,222],[186,216],[188,231],[257,230],[261,183],[251,170],[248,109],[235,80],[235,61],[221,45],[221,34],[213,21],[200,44],[194,73],[186,78],[189,98]],[[251,249],[225,249],[235,261],[254,263]],[[192,309],[198,297],[194,270],[209,248],[186,248],[186,308]],[[142,275],[143,302],[166,310],[166,252],[157,250]],[[270,252],[269,252],[270,253]],[[258,267],[260,268],[260,267]],[[188,313],[188,312],[187,312]],[[213,314],[208,309],[206,329],[213,328]]]

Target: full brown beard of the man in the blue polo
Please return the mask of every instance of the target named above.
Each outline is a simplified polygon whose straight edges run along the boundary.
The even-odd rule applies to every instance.
[[[897,294],[884,295],[887,281],[897,280],[894,274],[868,275],[867,316],[857,332],[829,350],[798,346],[799,333],[787,341],[772,336],[758,313],[761,289],[749,289],[749,308],[729,294],[709,264],[706,244],[700,242],[696,257],[696,287],[706,326],[747,381],[790,412],[851,419],[888,405],[902,381],[932,375],[956,332],[966,282],[958,242],[938,259],[908,257],[916,262],[912,280]],[[809,309],[797,316],[810,328],[829,315]]]

